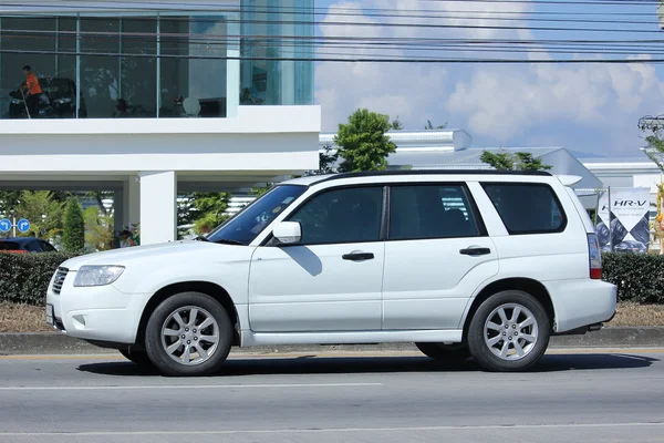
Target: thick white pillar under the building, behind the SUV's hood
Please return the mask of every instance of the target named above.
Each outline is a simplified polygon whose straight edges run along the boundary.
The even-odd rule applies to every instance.
[[[141,173],[141,245],[174,241],[176,238],[176,173]]]

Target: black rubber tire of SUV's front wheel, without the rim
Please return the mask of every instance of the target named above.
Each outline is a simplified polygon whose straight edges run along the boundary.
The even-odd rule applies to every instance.
[[[218,341],[214,350],[210,351],[211,347],[207,349],[210,353],[205,360],[201,360],[198,363],[193,362],[190,364],[184,364],[172,358],[172,354],[165,349],[166,346],[163,343],[162,328],[167,320],[175,321],[169,320],[174,312],[183,309],[183,312],[185,313],[190,312],[190,310],[188,310],[189,308],[196,308],[199,312],[203,312],[206,316],[209,315],[216,321]],[[181,316],[180,319],[184,320]],[[185,327],[183,326],[183,331],[184,328]],[[155,368],[166,375],[209,375],[219,371],[228,358],[232,344],[232,322],[228,312],[226,312],[226,309],[224,309],[224,307],[212,297],[200,292],[181,292],[164,300],[151,315],[145,330],[145,349],[149,359],[154,362]],[[188,328],[186,333],[191,332],[196,332],[196,330]],[[199,334],[204,334],[204,331],[201,330]],[[196,349],[197,342],[193,341],[194,337],[187,337],[187,339],[191,339],[186,342],[189,344],[186,344],[184,342],[185,339],[183,339],[181,347],[186,346],[189,350]],[[165,337],[164,340],[174,340],[173,344],[175,344],[175,341],[180,341],[180,336]],[[198,338],[196,338],[196,340],[198,340]],[[198,341],[198,343],[204,343],[203,337],[201,341]],[[179,350],[176,352],[179,352]],[[195,351],[195,354],[198,354],[197,350]],[[184,351],[179,357],[185,358]],[[199,356],[199,358],[201,357]]]

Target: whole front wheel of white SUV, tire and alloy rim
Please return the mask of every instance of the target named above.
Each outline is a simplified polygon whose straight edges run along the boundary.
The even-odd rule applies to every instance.
[[[226,361],[232,342],[228,312],[212,297],[183,292],[154,310],[145,331],[145,349],[167,375],[208,375]]]

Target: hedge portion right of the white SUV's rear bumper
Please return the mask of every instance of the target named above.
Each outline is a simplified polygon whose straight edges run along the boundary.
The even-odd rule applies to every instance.
[[[620,301],[664,303],[664,256],[602,255],[602,279],[618,286]]]

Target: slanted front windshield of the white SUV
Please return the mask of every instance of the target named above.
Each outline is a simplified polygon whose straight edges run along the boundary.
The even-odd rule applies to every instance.
[[[304,190],[307,190],[305,186],[276,186],[210,233],[206,239],[208,241],[249,245],[266,226],[301,196]]]

